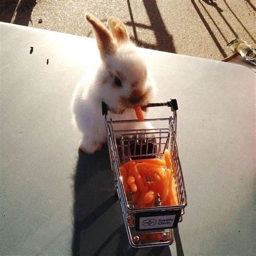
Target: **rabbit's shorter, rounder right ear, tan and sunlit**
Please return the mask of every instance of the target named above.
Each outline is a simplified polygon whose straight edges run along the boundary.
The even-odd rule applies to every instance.
[[[130,40],[129,33],[122,21],[116,17],[110,17],[107,21],[109,23],[112,35],[118,42],[127,42]]]

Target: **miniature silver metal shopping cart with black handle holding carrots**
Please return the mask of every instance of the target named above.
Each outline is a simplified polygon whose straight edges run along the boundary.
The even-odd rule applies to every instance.
[[[145,129],[145,126],[144,129],[132,129],[139,127],[138,120],[112,120],[107,117],[107,105],[102,103],[114,190],[120,201],[130,245],[136,248],[172,244],[172,228],[182,220],[187,205],[176,142],[177,101],[171,99],[166,103],[151,103],[147,107],[170,107],[171,116],[145,119],[144,122],[152,124],[150,129]],[[153,207],[136,208],[132,203],[133,193],[125,193],[119,167],[134,159],[162,158],[165,149],[171,152],[179,205],[161,206],[158,194]]]

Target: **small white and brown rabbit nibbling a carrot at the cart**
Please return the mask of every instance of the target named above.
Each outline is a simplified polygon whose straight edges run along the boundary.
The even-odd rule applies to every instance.
[[[116,17],[110,17],[110,30],[92,14],[87,21],[95,31],[100,59],[76,86],[71,108],[73,123],[82,133],[79,147],[93,154],[106,142],[102,102],[113,120],[137,119],[133,106],[145,110],[154,95],[154,80],[127,29]],[[144,108],[143,108],[144,106]],[[133,129],[152,129],[148,122],[130,123]],[[127,129],[122,127],[122,129]],[[131,127],[129,127],[131,129]]]

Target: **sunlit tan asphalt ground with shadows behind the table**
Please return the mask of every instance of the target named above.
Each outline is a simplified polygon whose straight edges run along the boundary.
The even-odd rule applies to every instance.
[[[2,0],[0,21],[93,37],[85,15],[116,16],[144,48],[223,60],[227,43],[255,48],[256,0]]]

